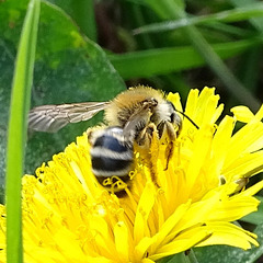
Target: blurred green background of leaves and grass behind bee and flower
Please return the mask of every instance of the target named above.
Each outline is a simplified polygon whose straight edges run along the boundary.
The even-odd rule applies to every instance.
[[[14,61],[27,4],[0,2],[0,195]],[[32,107],[107,101],[139,83],[180,92],[183,104],[190,89],[216,87],[226,114],[240,104],[255,112],[263,101],[262,1],[53,0],[42,1],[41,9]],[[25,173],[34,174],[101,121],[99,114],[57,134],[28,134]],[[256,231],[263,239],[260,226]],[[229,251],[226,261],[220,249]],[[263,253],[262,248],[248,253],[220,249],[196,254],[236,263],[255,262]]]

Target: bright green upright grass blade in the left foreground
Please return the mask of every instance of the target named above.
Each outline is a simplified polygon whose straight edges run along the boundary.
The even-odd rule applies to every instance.
[[[21,176],[41,2],[27,8],[13,77],[7,153],[7,260],[23,262]]]

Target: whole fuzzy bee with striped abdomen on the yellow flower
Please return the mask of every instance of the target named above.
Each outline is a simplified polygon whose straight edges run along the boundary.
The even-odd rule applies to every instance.
[[[155,128],[161,144],[168,145],[168,168],[173,141],[182,128],[181,112],[175,110],[161,91],[149,87],[130,88],[108,102],[37,106],[30,112],[28,127],[37,132],[55,133],[69,123],[88,121],[103,110],[108,128],[89,134],[92,169],[100,183],[114,174],[126,182],[128,171],[133,168],[134,146],[139,151],[145,151],[146,159],[149,159],[147,155]]]

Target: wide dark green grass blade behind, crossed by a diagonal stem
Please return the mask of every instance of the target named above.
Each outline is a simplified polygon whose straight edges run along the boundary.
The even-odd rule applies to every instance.
[[[215,44],[211,47],[220,58],[225,59],[259,44],[259,39],[248,39]],[[147,78],[155,75],[176,72],[206,64],[204,58],[191,46],[108,55],[108,58],[124,79]]]

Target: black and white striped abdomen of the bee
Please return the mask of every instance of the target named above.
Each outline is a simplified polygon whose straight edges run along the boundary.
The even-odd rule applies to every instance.
[[[104,185],[104,181],[112,176],[127,183],[134,164],[134,149],[133,141],[124,137],[123,128],[114,126],[95,130],[90,141],[92,172],[99,183]],[[114,192],[118,190],[114,188]]]

